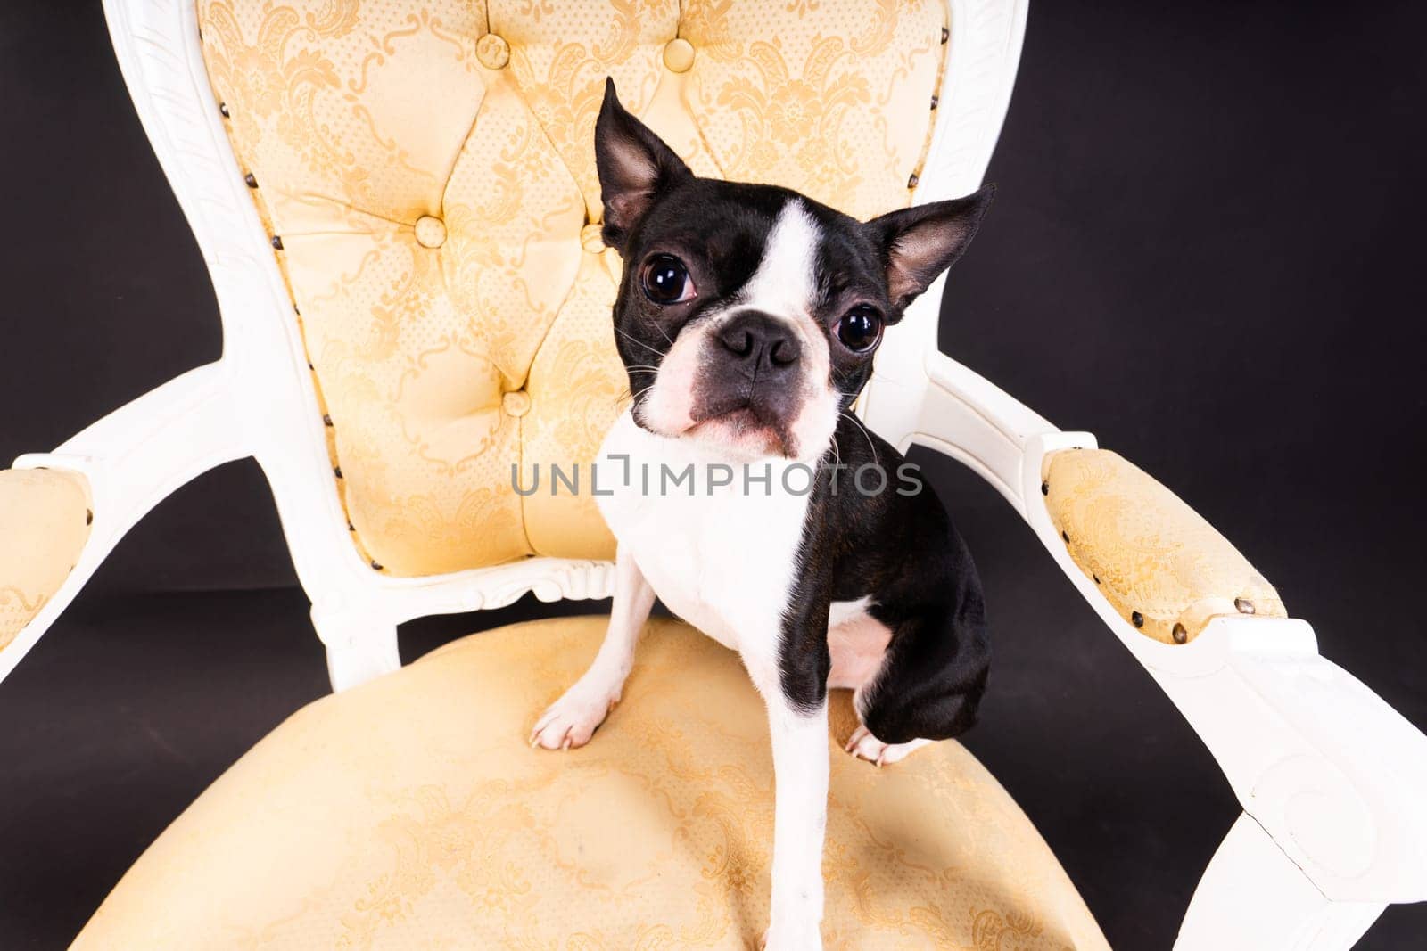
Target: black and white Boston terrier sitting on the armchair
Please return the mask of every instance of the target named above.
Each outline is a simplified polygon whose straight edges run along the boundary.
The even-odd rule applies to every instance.
[[[699,178],[612,83],[595,157],[604,240],[624,259],[614,324],[634,398],[596,458],[618,540],[614,610],[531,741],[589,741],[655,596],[736,650],[772,731],[765,944],[816,948],[828,689],[853,690],[848,750],[883,764],[969,729],[986,686],[966,545],[849,406],[883,328],[966,250],[992,190],[860,222],[786,188]]]

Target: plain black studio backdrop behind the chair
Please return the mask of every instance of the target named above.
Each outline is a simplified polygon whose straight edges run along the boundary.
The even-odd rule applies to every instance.
[[[1000,192],[943,314],[945,349],[1157,475],[1418,727],[1424,36],[1416,3],[1033,4]],[[97,3],[0,4],[0,459],[218,356]],[[1169,947],[1233,796],[1010,509],[919,461],[992,610],[968,746],[1110,941]],[[60,947],[207,783],[325,692],[294,586],[257,466],[225,466],[134,529],[0,684],[0,947]],[[420,622],[402,653],[601,607]],[[1427,908],[1390,908],[1361,947],[1424,931]]]

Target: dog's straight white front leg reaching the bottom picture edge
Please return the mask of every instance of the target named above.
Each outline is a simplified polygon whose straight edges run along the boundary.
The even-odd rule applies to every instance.
[[[773,891],[763,947],[768,951],[822,948],[829,756],[826,667],[812,664],[806,673],[783,674],[788,664],[776,653],[741,653],[768,704],[773,749]],[[818,669],[823,672],[821,682]]]

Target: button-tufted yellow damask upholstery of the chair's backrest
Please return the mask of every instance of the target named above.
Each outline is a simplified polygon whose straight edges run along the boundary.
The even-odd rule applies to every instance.
[[[548,490],[628,385],[605,76],[695,171],[870,217],[910,200],[946,50],[940,0],[197,3],[350,520],[398,575],[612,555],[589,493]]]

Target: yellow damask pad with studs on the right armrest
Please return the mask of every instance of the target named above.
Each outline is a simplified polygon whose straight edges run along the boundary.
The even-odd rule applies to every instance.
[[[1070,557],[1154,640],[1187,643],[1217,615],[1287,616],[1279,592],[1229,539],[1119,455],[1056,452],[1042,478]]]

